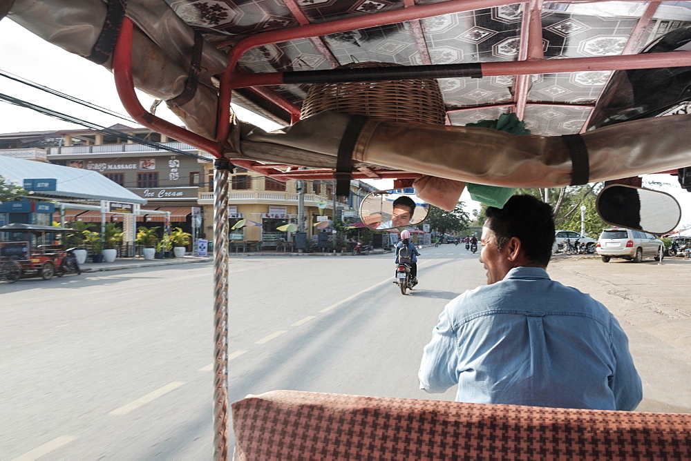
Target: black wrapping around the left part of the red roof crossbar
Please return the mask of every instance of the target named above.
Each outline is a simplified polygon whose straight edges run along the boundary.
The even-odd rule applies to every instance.
[[[438,79],[444,77],[482,78],[479,63],[430,64],[426,66],[363,67],[334,70],[283,72],[285,84],[322,84],[336,81],[377,81]]]

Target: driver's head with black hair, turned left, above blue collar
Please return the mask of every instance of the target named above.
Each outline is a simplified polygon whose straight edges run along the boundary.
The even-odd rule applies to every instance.
[[[485,214],[480,262],[487,271],[487,284],[499,282],[514,267],[547,267],[554,242],[549,204],[530,195],[514,195],[504,208],[489,206]]]

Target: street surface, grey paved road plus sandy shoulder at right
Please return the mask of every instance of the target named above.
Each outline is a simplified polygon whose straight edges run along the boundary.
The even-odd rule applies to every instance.
[[[230,400],[272,389],[453,400],[421,393],[417,366],[444,304],[484,271],[460,245],[422,253],[407,296],[390,254],[231,259]],[[622,322],[641,411],[691,412],[690,272],[682,260],[550,265]],[[211,459],[211,293],[211,264],[0,284],[0,459]]]

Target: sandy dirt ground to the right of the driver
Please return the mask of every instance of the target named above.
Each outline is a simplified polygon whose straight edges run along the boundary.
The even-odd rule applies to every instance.
[[[691,413],[691,259],[605,264],[556,255],[547,271],[605,304],[621,323],[643,380],[637,411]]]

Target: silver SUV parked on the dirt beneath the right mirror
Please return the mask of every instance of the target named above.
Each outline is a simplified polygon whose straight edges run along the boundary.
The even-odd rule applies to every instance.
[[[633,262],[641,262],[644,257],[654,257],[659,261],[664,253],[660,249],[664,248],[661,240],[654,235],[625,228],[606,228],[600,234],[596,251],[603,259],[609,262],[613,257],[623,257]]]

